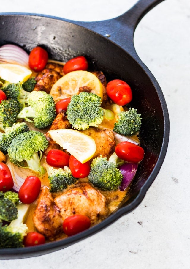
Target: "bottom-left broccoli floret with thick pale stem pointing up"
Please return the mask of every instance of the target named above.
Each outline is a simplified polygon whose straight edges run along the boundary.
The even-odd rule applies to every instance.
[[[24,222],[29,205],[18,204],[18,218],[11,221],[9,225],[0,224],[0,248],[20,248],[23,247],[24,236],[29,229]]]

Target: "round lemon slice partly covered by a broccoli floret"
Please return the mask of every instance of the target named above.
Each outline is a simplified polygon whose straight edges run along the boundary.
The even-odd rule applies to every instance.
[[[88,71],[72,71],[58,79],[52,86],[50,95],[57,103],[59,100],[79,94],[79,88],[87,86],[92,89],[92,93],[103,98],[103,86],[100,80]]]

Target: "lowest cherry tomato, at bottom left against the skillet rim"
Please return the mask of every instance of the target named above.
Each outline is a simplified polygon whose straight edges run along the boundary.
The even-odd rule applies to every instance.
[[[24,237],[23,243],[25,247],[41,245],[45,243],[45,236],[40,234],[39,232],[29,232]]]

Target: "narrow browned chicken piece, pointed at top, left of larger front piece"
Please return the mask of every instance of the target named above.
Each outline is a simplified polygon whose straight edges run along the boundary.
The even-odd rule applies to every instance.
[[[43,186],[39,194],[33,222],[36,229],[50,241],[62,232],[63,220],[47,187]]]

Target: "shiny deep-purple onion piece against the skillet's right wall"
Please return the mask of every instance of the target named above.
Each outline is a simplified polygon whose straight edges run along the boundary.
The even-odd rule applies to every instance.
[[[124,163],[118,167],[123,175],[121,186],[119,187],[121,191],[124,191],[131,183],[134,175],[136,174],[137,166],[138,163]]]

